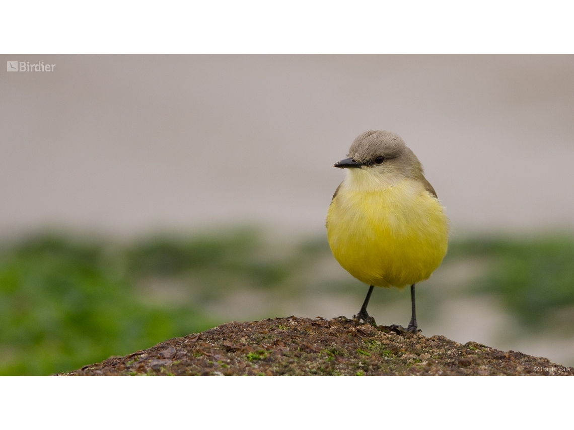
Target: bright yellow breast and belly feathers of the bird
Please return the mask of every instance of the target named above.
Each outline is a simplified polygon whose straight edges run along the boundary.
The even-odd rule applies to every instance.
[[[443,261],[448,218],[437,198],[409,181],[376,191],[342,186],[329,206],[327,238],[352,276],[402,288],[428,279]]]

